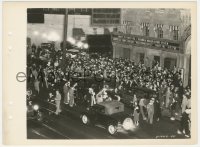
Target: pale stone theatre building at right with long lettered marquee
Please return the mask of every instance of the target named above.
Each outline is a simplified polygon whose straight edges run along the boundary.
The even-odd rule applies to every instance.
[[[122,9],[113,33],[113,57],[152,67],[182,70],[184,86],[191,75],[191,16],[187,9]]]

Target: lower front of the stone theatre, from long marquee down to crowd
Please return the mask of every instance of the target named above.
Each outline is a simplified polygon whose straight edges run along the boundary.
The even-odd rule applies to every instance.
[[[184,69],[182,72],[184,86],[188,85],[191,75],[191,46],[189,41],[183,46],[180,41],[130,34],[114,34],[112,44],[113,58],[127,58],[136,64],[143,63],[147,67],[153,67],[159,63],[162,68]]]

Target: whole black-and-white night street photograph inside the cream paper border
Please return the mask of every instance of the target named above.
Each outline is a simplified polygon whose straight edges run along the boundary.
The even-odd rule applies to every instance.
[[[191,10],[28,8],[27,139],[190,139]]]

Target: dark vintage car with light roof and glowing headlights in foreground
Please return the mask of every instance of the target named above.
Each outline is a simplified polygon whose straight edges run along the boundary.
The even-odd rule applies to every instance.
[[[114,135],[120,129],[132,130],[133,121],[124,112],[124,104],[119,101],[104,101],[95,104],[81,114],[83,124],[101,125],[108,133]]]

